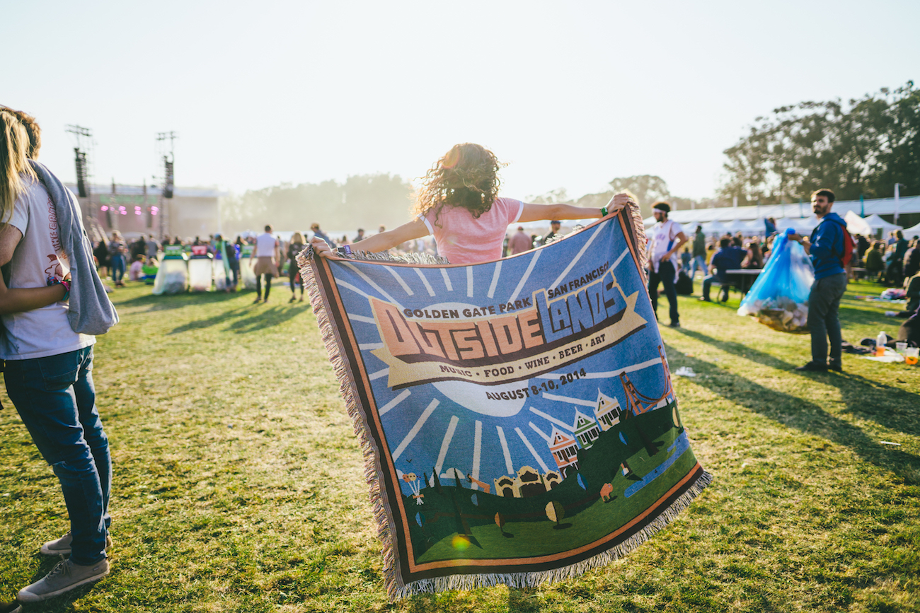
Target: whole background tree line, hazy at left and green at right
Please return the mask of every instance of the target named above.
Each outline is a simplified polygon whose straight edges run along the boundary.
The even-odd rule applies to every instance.
[[[811,192],[831,187],[838,199],[891,196],[900,183],[903,196],[920,193],[920,90],[914,82],[881,88],[844,104],[840,99],[799,102],[754,119],[748,133],[724,151],[725,179],[709,199],[671,193],[661,176],[612,179],[609,189],[581,198],[564,187],[527,196],[536,203],[567,202],[603,207],[616,192],[637,197],[643,217],[664,199],[676,210],[808,200]],[[249,190],[225,200],[224,226],[229,231],[259,229],[265,223],[287,230],[307,230],[316,221],[330,230],[397,226],[409,219],[412,186],[388,174],[350,176],[300,185],[282,184]]]

